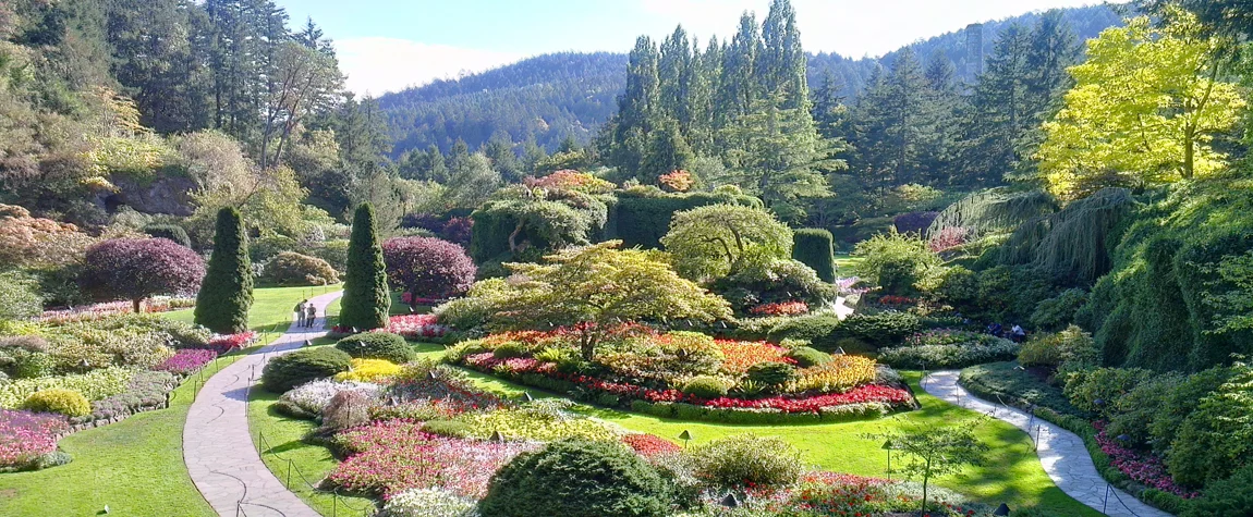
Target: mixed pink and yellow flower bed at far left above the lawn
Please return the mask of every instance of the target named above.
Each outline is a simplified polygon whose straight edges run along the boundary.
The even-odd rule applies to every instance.
[[[142,314],[9,323],[0,334],[0,472],[64,464],[71,432],[169,407],[205,364],[256,339]]]

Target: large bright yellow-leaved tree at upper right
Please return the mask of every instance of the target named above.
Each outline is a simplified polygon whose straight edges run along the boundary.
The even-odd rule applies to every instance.
[[[1160,184],[1214,173],[1227,156],[1215,133],[1235,125],[1244,99],[1224,81],[1222,41],[1190,13],[1154,28],[1148,16],[1088,41],[1071,66],[1065,108],[1044,124],[1040,171],[1049,189],[1076,199],[1104,187]]]

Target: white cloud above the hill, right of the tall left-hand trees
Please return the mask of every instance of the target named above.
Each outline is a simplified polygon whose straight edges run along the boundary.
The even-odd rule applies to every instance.
[[[352,38],[335,43],[347,86],[357,94],[382,95],[435,79],[492,69],[525,58],[517,53],[431,45],[396,38]]]

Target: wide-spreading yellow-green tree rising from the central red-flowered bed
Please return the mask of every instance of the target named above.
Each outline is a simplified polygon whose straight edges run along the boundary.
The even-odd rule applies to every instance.
[[[724,299],[680,278],[663,253],[619,245],[621,240],[609,240],[558,252],[545,264],[506,264],[524,280],[500,303],[492,324],[570,327],[590,361],[605,334],[623,322],[730,318]]]

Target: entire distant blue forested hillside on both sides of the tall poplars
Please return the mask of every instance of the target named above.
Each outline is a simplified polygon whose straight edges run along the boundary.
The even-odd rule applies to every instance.
[[[1105,5],[1066,9],[1065,13],[1080,40],[1121,23]],[[984,23],[982,55],[992,53],[997,34],[1010,24],[1031,26],[1037,18],[1039,14],[1029,13]],[[977,54],[966,53],[967,36],[961,28],[908,46],[920,59],[935,50],[944,51],[956,65],[959,76],[972,83],[977,71],[972,61]],[[845,95],[852,98],[866,85],[873,69],[891,64],[897,53],[877,59],[811,54],[809,86],[817,89],[826,70],[831,70],[843,84]],[[457,138],[475,149],[494,134],[515,143],[534,139],[551,151],[566,135],[580,143],[595,136],[600,124],[616,111],[615,99],[625,88],[625,54],[546,54],[459,80],[387,94],[380,98],[380,104],[388,115],[396,155],[431,144],[447,151]]]

